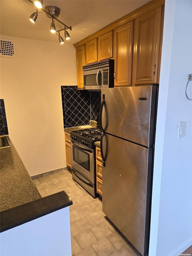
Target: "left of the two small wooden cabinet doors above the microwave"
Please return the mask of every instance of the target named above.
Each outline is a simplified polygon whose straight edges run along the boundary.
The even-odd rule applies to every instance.
[[[85,44],[86,64],[97,61],[97,38]]]

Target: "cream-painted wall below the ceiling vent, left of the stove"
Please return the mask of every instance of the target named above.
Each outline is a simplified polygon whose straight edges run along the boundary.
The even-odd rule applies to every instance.
[[[10,139],[30,175],[66,167],[61,85],[76,85],[73,45],[13,39],[17,58],[1,57],[1,98]]]

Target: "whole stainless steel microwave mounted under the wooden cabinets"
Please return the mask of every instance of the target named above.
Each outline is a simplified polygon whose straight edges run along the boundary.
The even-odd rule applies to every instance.
[[[114,60],[108,59],[83,66],[83,89],[101,90],[114,87]]]

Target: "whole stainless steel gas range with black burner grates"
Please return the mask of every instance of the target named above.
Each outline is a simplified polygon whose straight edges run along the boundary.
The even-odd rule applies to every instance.
[[[71,138],[72,176],[86,191],[96,197],[95,141],[100,141],[100,128],[73,131]]]

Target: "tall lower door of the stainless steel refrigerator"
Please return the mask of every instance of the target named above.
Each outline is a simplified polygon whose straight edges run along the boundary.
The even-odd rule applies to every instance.
[[[107,150],[106,150],[107,149]],[[148,252],[153,149],[103,137],[103,212],[142,254]]]

